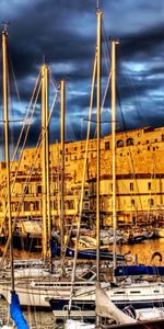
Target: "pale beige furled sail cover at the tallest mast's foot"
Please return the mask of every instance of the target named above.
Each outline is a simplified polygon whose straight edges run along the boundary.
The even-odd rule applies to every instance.
[[[96,315],[104,318],[113,318],[117,324],[133,324],[136,319],[129,317],[115,306],[109,299],[105,291],[101,288],[101,284],[96,284]]]

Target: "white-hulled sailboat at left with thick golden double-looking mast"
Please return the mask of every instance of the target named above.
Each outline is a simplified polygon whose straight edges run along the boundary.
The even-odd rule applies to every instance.
[[[48,72],[48,67],[47,65],[44,64],[43,66],[43,107],[45,111],[43,111],[44,113],[47,112],[47,72]],[[45,81],[46,80],[46,81]],[[63,83],[62,84],[62,92],[63,92]],[[61,95],[61,98],[63,98],[63,94]],[[61,103],[63,103],[63,100],[61,101]],[[43,120],[43,131],[47,131],[47,124],[48,124],[48,118],[47,118],[47,114],[46,117],[44,117]],[[50,253],[49,253],[49,249],[48,249],[48,245],[49,245],[49,239],[47,238],[47,230],[48,228],[50,228],[49,223],[47,223],[47,213],[48,213],[48,200],[47,200],[47,194],[48,194],[48,184],[46,183],[46,175],[48,175],[48,169],[47,169],[47,160],[46,160],[46,154],[47,154],[47,138],[44,137],[44,156],[43,156],[43,167],[44,167],[44,177],[43,177],[43,185],[46,186],[44,190],[44,200],[43,200],[43,204],[44,204],[44,220],[43,220],[43,226],[44,226],[44,236],[43,236],[43,257],[45,260],[47,260],[48,258],[50,258]],[[46,174],[45,174],[46,173]],[[10,193],[9,193],[10,195]],[[50,236],[50,229],[49,229],[49,236]],[[49,260],[50,262],[50,260]],[[54,272],[54,274],[49,273],[49,275],[45,275],[45,272],[40,272],[40,274],[43,274],[42,276],[39,275],[38,277],[21,277],[19,281],[14,281],[14,287],[19,294],[20,297],[20,304],[21,306],[27,307],[27,306],[32,306],[32,307],[47,307],[49,308],[49,303],[48,303],[48,298],[49,297],[57,297],[57,296],[68,296],[70,294],[70,290],[71,290],[71,281],[70,281],[70,271],[69,269],[67,269],[67,266],[65,266],[65,275],[61,275],[61,271],[59,272],[59,264],[61,264],[61,261],[57,260],[57,264],[55,262],[54,266],[57,268],[57,272]],[[13,265],[12,265],[13,269]],[[56,269],[55,269],[56,270]],[[79,290],[80,287],[86,285],[86,286],[91,286],[93,285],[92,280],[90,282],[87,282],[87,280],[84,280],[83,274],[86,274],[87,272],[87,266],[82,266],[82,271],[80,269],[80,271],[77,272],[77,275],[79,276],[79,281],[77,283],[77,290]],[[24,270],[22,270],[22,274],[24,273]],[[34,274],[34,273],[33,273]],[[95,275],[95,273],[92,273],[93,277]],[[46,276],[46,277],[45,277]],[[62,276],[62,277],[61,277]],[[92,279],[92,277],[91,277]],[[11,303],[11,282],[8,279],[2,279],[0,280],[0,295],[2,295],[8,303]]]

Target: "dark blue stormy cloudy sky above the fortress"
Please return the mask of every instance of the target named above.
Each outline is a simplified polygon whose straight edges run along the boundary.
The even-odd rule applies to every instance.
[[[14,71],[21,99],[20,102],[12,82],[10,116],[13,120],[24,118],[40,65],[46,60],[56,82],[59,83],[60,79],[67,81],[66,138],[84,138],[96,42],[96,0],[0,1],[0,20],[10,22],[10,70]],[[117,128],[163,126],[164,2],[99,0],[99,7],[103,11],[104,56],[102,99],[110,56],[109,42],[106,41],[109,36],[119,38]],[[54,93],[51,83],[50,102]],[[104,118],[110,121],[109,99],[108,93],[102,121]],[[2,105],[0,111],[2,117]],[[95,105],[93,111],[95,112]],[[15,122],[13,126],[13,135],[17,136],[21,122]],[[39,131],[38,104],[28,145],[35,144]],[[110,123],[103,124],[102,132],[110,133]],[[50,137],[52,141],[59,138],[59,104],[51,118]]]

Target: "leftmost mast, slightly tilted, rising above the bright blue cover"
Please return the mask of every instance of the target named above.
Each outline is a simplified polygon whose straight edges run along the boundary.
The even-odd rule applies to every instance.
[[[8,32],[4,26],[2,32],[2,70],[3,70],[3,112],[4,112],[4,145],[7,166],[7,196],[8,196],[8,218],[10,238],[10,263],[11,263],[11,291],[14,291],[14,269],[13,269],[13,235],[11,215],[11,183],[10,183],[10,147],[9,147],[9,104],[8,104]]]

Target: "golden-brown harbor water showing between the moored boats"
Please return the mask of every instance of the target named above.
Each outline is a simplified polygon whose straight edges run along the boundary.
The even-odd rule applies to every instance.
[[[137,243],[133,246],[118,246],[118,253],[127,253],[131,252],[131,254],[137,256],[138,263],[140,264],[164,264],[164,238],[154,239],[154,240],[144,240],[141,243]],[[155,257],[152,260],[152,256],[154,252],[160,252],[162,256],[162,262],[160,262],[160,258]],[[15,257],[20,256],[20,251],[14,250]],[[27,253],[22,252],[22,259],[27,258]],[[31,256],[32,257],[32,256]],[[39,253],[33,254],[33,258],[39,258]],[[31,329],[52,329],[59,328],[60,325],[55,322],[55,318],[52,313],[49,311],[40,311],[40,310],[24,310],[23,311]],[[8,324],[9,311],[7,302],[3,298],[0,298],[0,319],[2,319],[3,324]]]

